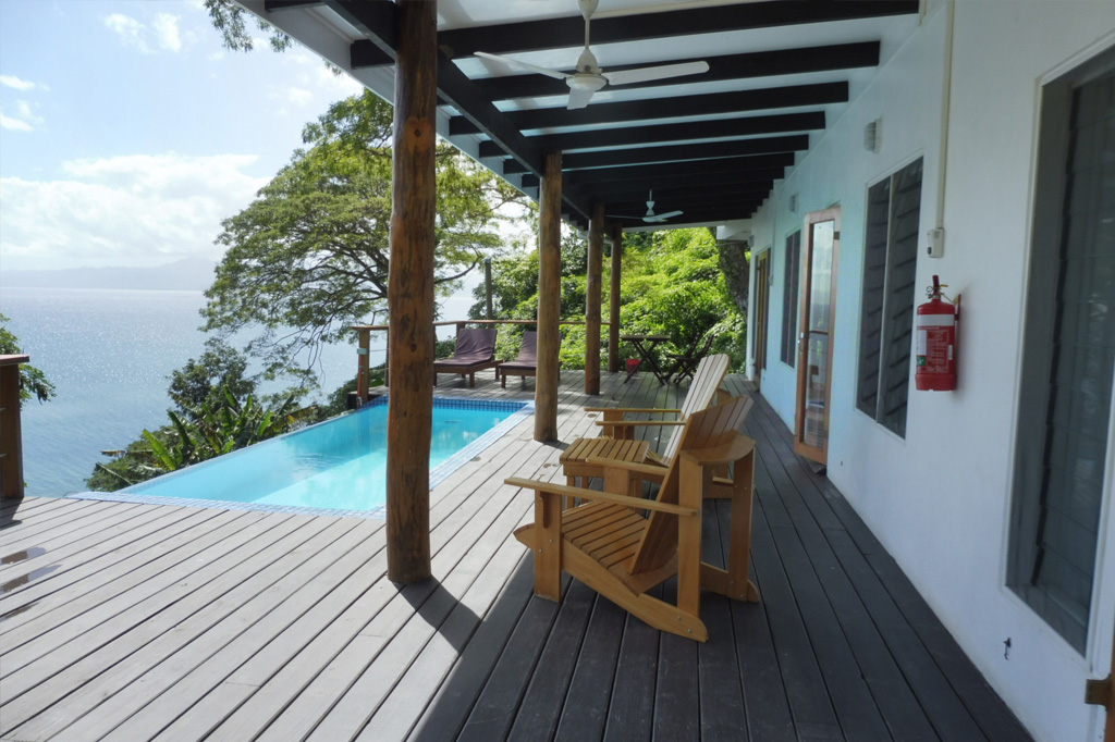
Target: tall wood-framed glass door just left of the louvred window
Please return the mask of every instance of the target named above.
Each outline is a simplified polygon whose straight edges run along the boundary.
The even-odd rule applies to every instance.
[[[804,236],[794,450],[826,465],[840,207],[806,215]]]

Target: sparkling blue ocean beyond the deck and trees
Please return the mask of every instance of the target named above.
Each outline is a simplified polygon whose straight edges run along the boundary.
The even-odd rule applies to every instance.
[[[171,372],[204,352],[197,330],[200,291],[19,289],[0,292],[0,314],[31,364],[55,384],[57,397],[23,404],[27,494],[85,491],[100,451],[119,449],[169,420]],[[442,316],[464,318],[467,294],[442,303]],[[452,336],[453,329],[438,334]],[[372,335],[372,363],[382,362],[385,333]],[[322,397],[356,374],[356,342],[329,346],[321,358]],[[279,391],[282,384],[263,388]]]

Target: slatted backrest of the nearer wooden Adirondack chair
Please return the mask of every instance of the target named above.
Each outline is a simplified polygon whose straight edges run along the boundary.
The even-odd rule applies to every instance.
[[[745,394],[724,404],[695,412],[686,421],[685,427],[680,428],[681,440],[678,451],[712,448],[731,440],[743,427],[754,403],[755,400]],[[670,460],[669,470],[658,490],[657,499],[659,502],[678,504],[680,461],[680,456]],[[631,574],[656,569],[666,564],[677,551],[677,516],[668,512],[651,512],[639,548],[631,557]]]

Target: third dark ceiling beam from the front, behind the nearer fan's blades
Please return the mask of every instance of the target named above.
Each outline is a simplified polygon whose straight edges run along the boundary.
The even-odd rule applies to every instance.
[[[698,81],[698,78],[692,78]],[[714,116],[737,114],[768,108],[794,108],[798,106],[824,106],[847,102],[847,82],[822,82],[797,85],[762,90],[738,92],[716,92],[704,96],[677,96],[671,98],[646,98],[622,102],[594,102],[588,108],[568,110],[565,108],[537,108],[507,111],[505,116],[522,131],[529,129],[553,129],[581,127],[592,124],[618,124],[622,121],[649,121],[657,118],[681,118],[683,116]],[[477,134],[475,127],[464,117],[449,119],[449,134]],[[562,166],[569,169],[568,162]]]

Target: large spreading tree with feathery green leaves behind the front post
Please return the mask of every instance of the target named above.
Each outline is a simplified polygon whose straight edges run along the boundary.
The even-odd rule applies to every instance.
[[[321,344],[386,312],[391,217],[388,104],[370,92],[333,104],[308,125],[309,148],[223,223],[227,251],[206,292],[204,330],[263,329],[249,343],[269,378],[302,359],[303,383]],[[524,197],[447,144],[437,150],[436,284],[448,294],[498,252],[506,208]],[[522,211],[522,209],[521,209]]]

